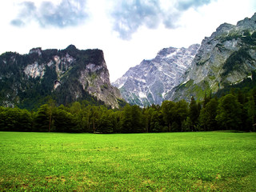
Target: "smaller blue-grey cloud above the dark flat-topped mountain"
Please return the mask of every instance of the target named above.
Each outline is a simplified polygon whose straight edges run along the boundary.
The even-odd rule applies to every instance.
[[[42,27],[63,28],[78,26],[89,18],[85,0],[62,0],[58,5],[44,1],[40,6],[35,6],[34,2],[22,2],[20,6],[18,18],[10,22],[13,26],[26,26],[35,21]]]

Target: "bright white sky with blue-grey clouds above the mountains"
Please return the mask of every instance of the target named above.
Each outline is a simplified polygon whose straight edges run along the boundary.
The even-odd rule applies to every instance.
[[[2,0],[0,54],[100,49],[114,82],[162,48],[201,43],[255,12],[255,0]]]

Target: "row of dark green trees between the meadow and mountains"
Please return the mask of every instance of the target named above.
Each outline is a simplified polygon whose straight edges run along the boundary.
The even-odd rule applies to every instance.
[[[206,95],[202,102],[164,101],[144,108],[121,109],[84,105],[56,106],[50,99],[37,111],[0,107],[1,131],[68,133],[158,133],[175,131],[255,131],[256,89],[231,91],[221,98]]]

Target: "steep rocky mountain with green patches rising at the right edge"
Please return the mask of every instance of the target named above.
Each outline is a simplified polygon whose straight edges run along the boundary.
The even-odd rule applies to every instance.
[[[256,14],[236,26],[222,24],[202,44],[183,82],[170,92],[171,100],[193,95],[202,99],[226,86],[252,78],[256,70]]]

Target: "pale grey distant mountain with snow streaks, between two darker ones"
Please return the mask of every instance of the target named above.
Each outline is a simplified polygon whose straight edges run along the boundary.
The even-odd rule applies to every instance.
[[[199,45],[195,44],[187,49],[162,49],[154,59],[143,60],[112,84],[131,104],[161,104],[163,100],[169,99],[170,91],[182,82],[182,75],[190,67],[198,48]]]

